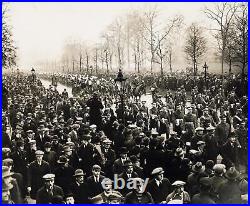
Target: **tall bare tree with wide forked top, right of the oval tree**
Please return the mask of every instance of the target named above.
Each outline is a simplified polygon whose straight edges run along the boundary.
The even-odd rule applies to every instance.
[[[217,24],[217,28],[213,28],[215,38],[218,42],[218,49],[221,54],[221,73],[224,75],[225,50],[228,43],[229,30],[232,26],[233,17],[237,10],[236,3],[216,3],[215,8],[205,8],[206,16]]]

